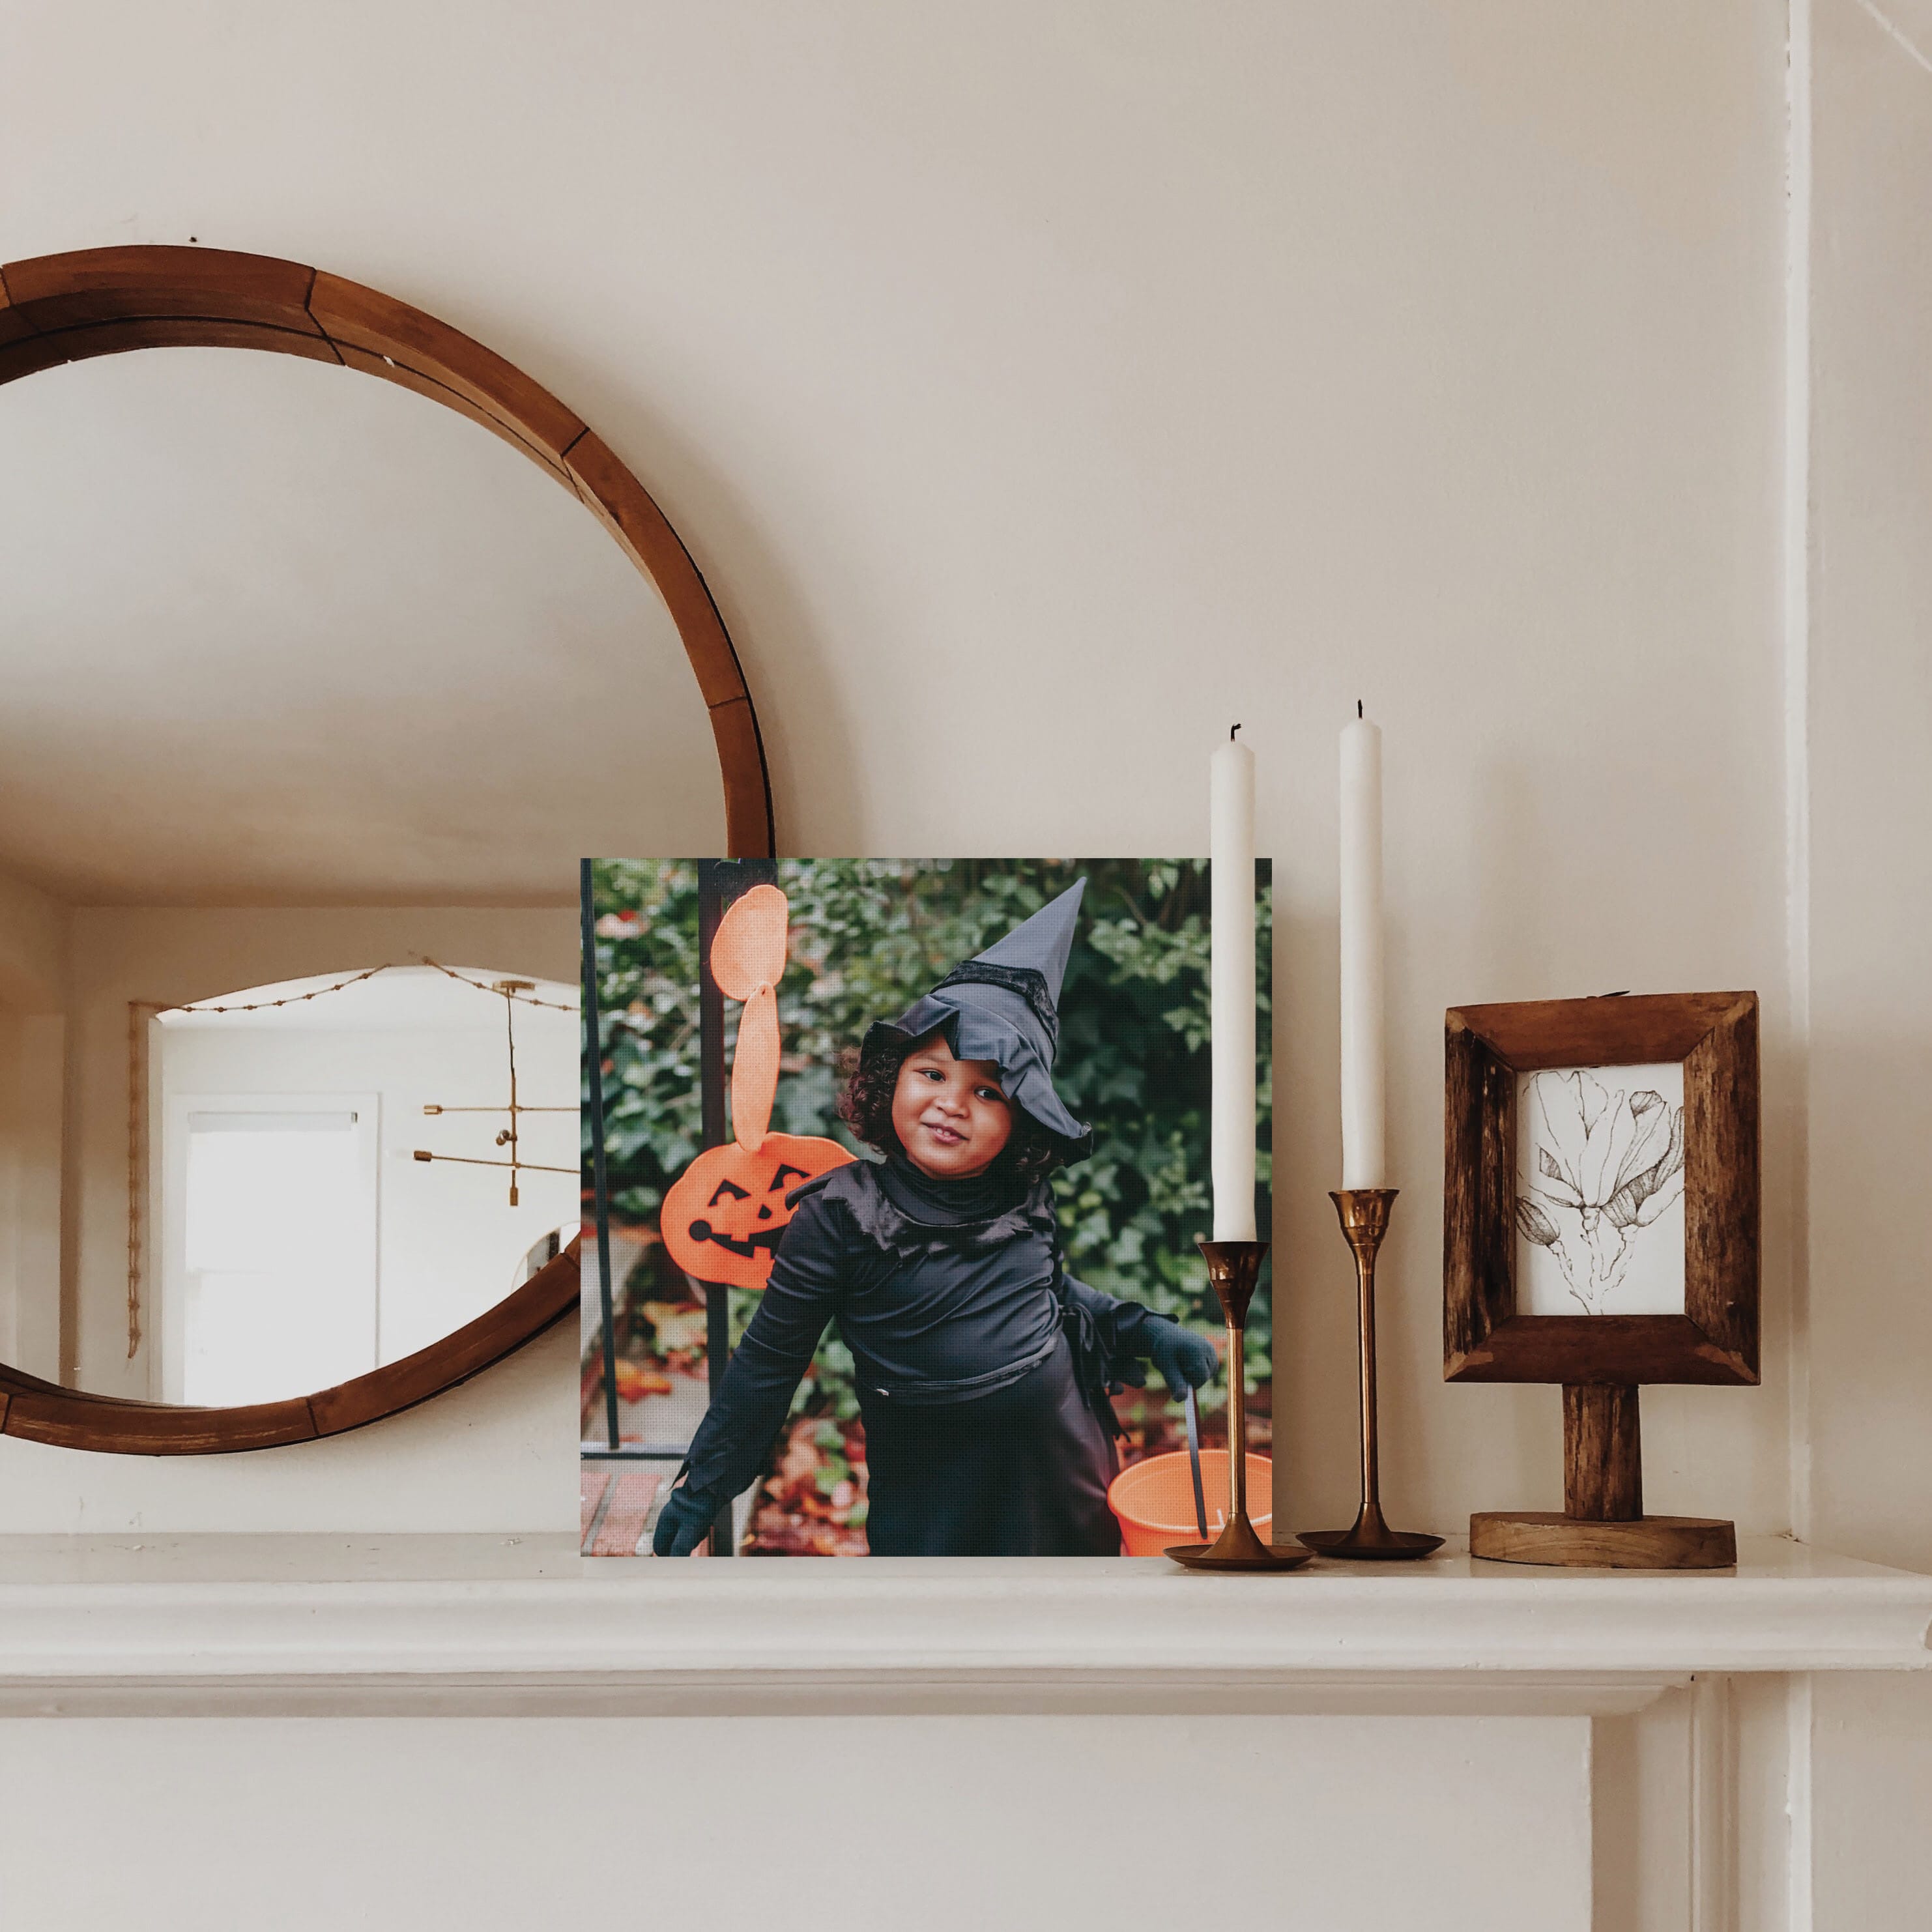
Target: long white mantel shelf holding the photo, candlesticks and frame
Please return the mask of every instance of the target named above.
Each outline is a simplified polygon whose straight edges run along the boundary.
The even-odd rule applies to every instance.
[[[1441,1555],[583,1561],[568,1538],[0,1536],[0,1712],[1629,1712],[1698,1675],[1926,1669],[1932,1577]]]

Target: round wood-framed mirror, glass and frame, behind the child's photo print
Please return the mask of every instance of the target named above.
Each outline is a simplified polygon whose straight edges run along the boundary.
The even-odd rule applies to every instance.
[[[597,435],[375,290],[8,263],[0,390],[0,1430],[357,1428],[576,1310],[576,860],[773,850],[744,674]]]

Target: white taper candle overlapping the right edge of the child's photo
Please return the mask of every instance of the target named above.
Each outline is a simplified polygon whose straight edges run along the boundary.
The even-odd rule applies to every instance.
[[[1208,796],[1213,1238],[1254,1240],[1254,753],[1233,732]]]

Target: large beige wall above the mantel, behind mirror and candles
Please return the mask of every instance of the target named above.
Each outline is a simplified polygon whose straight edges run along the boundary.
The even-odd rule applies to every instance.
[[[792,850],[1198,850],[1242,719],[1283,939],[1285,1507],[1314,1520],[1352,1484],[1323,1192],[1364,697],[1389,1497],[1451,1530],[1553,1503],[1555,1393],[1439,1381],[1441,1010],[1754,985],[1783,1078],[1781,21],[502,6],[452,48],[383,19],[371,64],[272,10],[141,15],[126,85],[70,95],[71,17],[37,15],[8,253],[321,261],[554,384],[717,589]],[[489,102],[531,73],[506,131]],[[1656,1507],[1787,1524],[1783,1293],[1762,1391],[1646,1397]]]

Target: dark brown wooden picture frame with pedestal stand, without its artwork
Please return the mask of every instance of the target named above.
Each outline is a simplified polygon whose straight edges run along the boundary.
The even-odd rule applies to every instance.
[[[1517,1076],[1654,1063],[1683,1065],[1683,1314],[1519,1312]],[[1443,1379],[1565,1387],[1565,1515],[1478,1515],[1470,1551],[1642,1567],[1735,1561],[1727,1522],[1642,1517],[1636,1387],[1758,1381],[1758,995],[1455,1007],[1443,1074]],[[1648,1538],[1662,1553],[1617,1534],[1692,1520],[1698,1534]],[[1578,1536],[1578,1524],[1596,1530]]]

